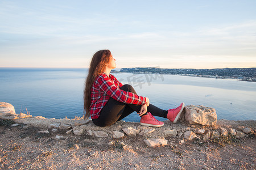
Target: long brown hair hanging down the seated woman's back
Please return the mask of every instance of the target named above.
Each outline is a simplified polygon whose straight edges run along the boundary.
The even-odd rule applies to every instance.
[[[96,77],[104,72],[106,67],[106,63],[109,62],[110,58],[110,50],[100,50],[96,52],[92,61],[90,62],[90,67],[88,71],[87,78],[85,80],[85,88],[84,88],[84,118],[88,119],[90,117],[90,89],[92,88],[92,84]]]

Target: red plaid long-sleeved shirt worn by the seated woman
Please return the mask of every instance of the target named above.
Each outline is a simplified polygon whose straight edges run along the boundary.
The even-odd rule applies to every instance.
[[[90,89],[90,117],[100,116],[101,109],[109,101],[110,97],[122,103],[146,104],[146,97],[138,96],[131,92],[119,89],[123,84],[115,76],[102,73],[97,76]]]

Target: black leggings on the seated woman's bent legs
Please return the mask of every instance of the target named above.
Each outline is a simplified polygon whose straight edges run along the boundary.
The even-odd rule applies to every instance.
[[[132,92],[133,94],[137,94],[132,86],[129,84],[125,84],[120,87],[121,90]],[[100,117],[93,119],[93,123],[97,126],[110,126],[115,122],[122,120],[129,114],[141,111],[141,106],[138,104],[126,104],[120,101],[114,100],[110,98],[108,103],[102,108]],[[153,116],[159,116],[166,118],[167,111],[162,110],[154,105],[150,104],[147,107],[147,111],[150,112]],[[145,113],[147,114],[147,113]]]

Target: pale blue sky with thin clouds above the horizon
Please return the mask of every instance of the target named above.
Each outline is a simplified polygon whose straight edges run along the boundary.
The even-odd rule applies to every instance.
[[[256,67],[256,1],[0,0],[0,67]]]

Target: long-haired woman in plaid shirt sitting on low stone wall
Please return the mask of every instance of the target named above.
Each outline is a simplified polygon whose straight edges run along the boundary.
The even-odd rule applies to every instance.
[[[115,59],[110,50],[100,50],[93,55],[85,82],[85,118],[90,116],[97,126],[110,126],[135,111],[141,116],[140,124],[144,126],[164,125],[154,116],[168,118],[176,123],[184,103],[168,111],[155,107],[150,104],[148,97],[138,96],[132,86],[123,85],[110,74],[115,67]]]

